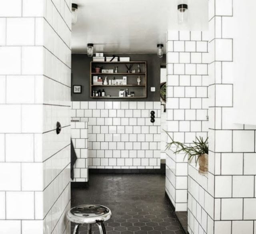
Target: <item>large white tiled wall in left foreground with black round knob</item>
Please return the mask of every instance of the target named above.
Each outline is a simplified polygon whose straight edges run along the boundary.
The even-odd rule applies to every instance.
[[[0,1],[1,234],[70,232],[70,27],[70,1]]]

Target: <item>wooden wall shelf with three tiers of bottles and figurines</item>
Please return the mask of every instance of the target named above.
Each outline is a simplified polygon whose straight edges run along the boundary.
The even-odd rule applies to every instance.
[[[141,72],[140,73],[128,73],[127,67],[125,65],[132,64],[134,67],[132,69],[138,69],[138,64],[140,65]],[[102,69],[114,69],[115,66],[118,66],[118,73],[96,73],[95,67],[102,67]],[[127,76],[127,84],[126,85],[100,85],[93,84],[93,77],[98,76],[102,77],[104,81],[104,77],[107,76],[109,79],[122,79],[123,76]],[[141,85],[137,83],[137,77],[141,78]],[[116,87],[116,89],[114,88]],[[118,97],[119,89],[118,87],[129,88],[129,93],[133,91],[135,93],[134,97]],[[104,97],[93,97],[92,93],[94,91],[104,89],[105,96]],[[107,97],[110,95],[110,97]],[[128,62],[120,62],[120,61],[91,61],[90,63],[90,97],[92,98],[122,98],[122,99],[133,99],[133,98],[146,98],[147,97],[147,62],[146,61],[128,61]]]

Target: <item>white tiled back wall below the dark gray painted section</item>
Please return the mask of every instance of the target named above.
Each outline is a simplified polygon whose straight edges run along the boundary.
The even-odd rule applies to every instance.
[[[73,101],[71,116],[88,121],[89,168],[160,168],[160,101]]]

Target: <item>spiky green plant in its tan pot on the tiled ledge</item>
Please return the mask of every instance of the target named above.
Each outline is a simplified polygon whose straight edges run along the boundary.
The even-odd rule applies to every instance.
[[[166,132],[166,131],[165,131]],[[178,141],[174,141],[172,137],[166,132],[171,139],[170,143],[167,143],[166,150],[172,146],[176,146],[175,154],[184,152],[185,156],[188,155],[188,162],[190,163],[194,157],[196,157],[196,165],[199,163],[198,172],[200,174],[208,173],[208,137],[204,141],[202,137],[196,137],[196,141],[193,141],[191,146],[187,146]]]

